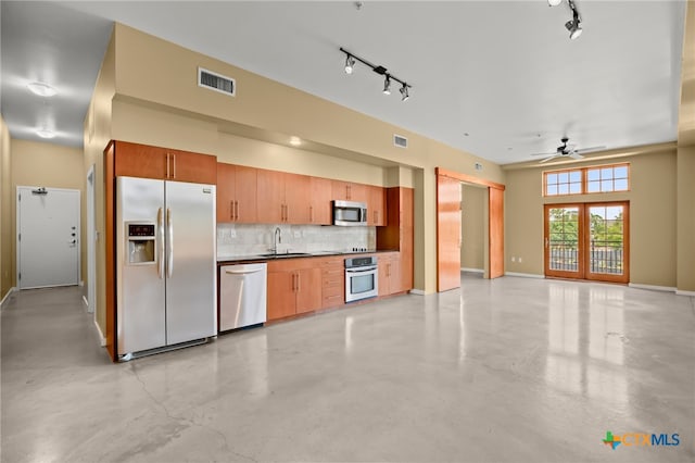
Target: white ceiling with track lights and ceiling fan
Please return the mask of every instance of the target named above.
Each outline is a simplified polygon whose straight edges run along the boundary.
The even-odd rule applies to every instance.
[[[563,2],[1,2],[2,115],[11,135],[80,146],[116,21],[450,146],[505,164],[539,160],[563,136],[578,149],[677,139],[684,0]],[[339,47],[413,85],[382,78]],[[60,95],[42,101],[26,83]],[[395,83],[394,83],[395,84]],[[242,89],[240,89],[242,91]]]

